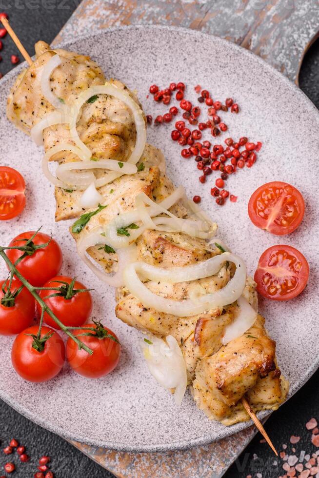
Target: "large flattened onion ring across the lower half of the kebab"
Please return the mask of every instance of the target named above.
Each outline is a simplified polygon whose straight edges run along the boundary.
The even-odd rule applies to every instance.
[[[219,291],[200,296],[195,302],[192,299],[173,300],[157,296],[142,283],[138,276],[140,273],[144,279],[157,282],[175,283],[197,280],[216,274],[225,261],[236,265],[234,277]],[[125,268],[123,277],[127,289],[140,299],[145,307],[177,317],[190,317],[235,302],[245,287],[246,266],[238,256],[225,252],[197,264],[169,269],[152,266],[146,262],[134,262]]]

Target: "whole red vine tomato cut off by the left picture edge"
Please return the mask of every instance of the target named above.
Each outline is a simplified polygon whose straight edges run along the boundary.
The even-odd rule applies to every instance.
[[[5,283],[5,292],[8,291],[8,280],[0,281],[0,302],[4,297],[2,285]],[[21,286],[20,280],[13,279],[10,287],[12,294]],[[9,298],[8,298],[9,299]],[[0,303],[0,334],[19,334],[26,327],[31,325],[35,316],[36,303],[32,294],[23,287],[13,300],[6,300]],[[7,305],[5,305],[7,304]]]

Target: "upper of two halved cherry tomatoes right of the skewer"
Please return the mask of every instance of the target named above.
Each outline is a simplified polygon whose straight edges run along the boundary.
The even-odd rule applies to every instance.
[[[304,214],[304,200],[291,184],[267,182],[252,194],[248,214],[255,226],[276,236],[289,234],[299,226]]]

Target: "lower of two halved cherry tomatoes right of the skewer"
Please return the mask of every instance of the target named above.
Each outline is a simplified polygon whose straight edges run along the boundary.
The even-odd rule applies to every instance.
[[[261,254],[254,279],[262,296],[289,300],[303,291],[308,277],[309,265],[301,252],[291,246],[279,245]]]

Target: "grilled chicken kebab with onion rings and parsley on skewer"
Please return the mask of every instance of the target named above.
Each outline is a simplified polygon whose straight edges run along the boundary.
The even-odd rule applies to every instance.
[[[216,224],[165,175],[162,153],[145,142],[136,94],[106,81],[87,56],[43,41],[35,50],[7,116],[44,144],[55,219],[76,219],[78,252],[116,287],[117,317],[147,334],[154,377],[179,403],[190,385],[197,406],[225,425],[249,419],[243,397],[255,412],[277,409],[288,382],[257,313],[256,284],[242,259],[214,244]]]

